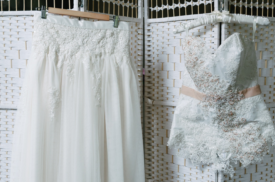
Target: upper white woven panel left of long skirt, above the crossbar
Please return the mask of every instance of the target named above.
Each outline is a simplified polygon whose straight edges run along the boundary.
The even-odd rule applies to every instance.
[[[0,17],[0,104],[17,104],[32,48],[31,16]]]

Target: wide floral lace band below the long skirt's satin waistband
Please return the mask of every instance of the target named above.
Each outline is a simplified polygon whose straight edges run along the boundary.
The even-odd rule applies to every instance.
[[[34,21],[32,50],[34,58],[48,54],[62,69],[67,64],[66,75],[74,81],[74,61],[81,60],[86,69],[91,69],[114,56],[115,64],[129,64],[129,31],[122,29],[77,28],[45,21]],[[66,57],[65,57],[66,56]]]

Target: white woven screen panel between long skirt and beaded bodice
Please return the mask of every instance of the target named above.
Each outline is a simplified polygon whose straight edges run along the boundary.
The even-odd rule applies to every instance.
[[[155,101],[176,103],[184,69],[181,38],[172,30],[186,21],[145,24],[145,91]],[[219,25],[219,23],[218,23]],[[203,37],[214,51],[219,43],[216,25],[192,29],[190,34]],[[211,165],[193,166],[189,159],[177,157],[167,145],[175,107],[145,102],[145,177],[156,181],[215,181]],[[153,180],[152,180],[153,181]]]

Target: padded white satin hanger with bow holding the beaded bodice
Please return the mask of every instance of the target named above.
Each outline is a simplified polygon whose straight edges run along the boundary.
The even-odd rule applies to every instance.
[[[251,15],[242,15],[242,14],[229,14],[229,11],[213,11],[212,13],[205,13],[206,16],[200,17],[198,19],[188,21],[181,25],[178,25],[174,30],[173,33],[181,33],[186,31],[186,36],[189,35],[189,29],[199,27],[202,25],[207,25],[211,23],[241,23],[241,24],[249,24],[253,25],[253,40],[254,34],[256,31],[256,25],[263,25],[268,26],[270,21],[264,17],[258,16],[251,16]]]

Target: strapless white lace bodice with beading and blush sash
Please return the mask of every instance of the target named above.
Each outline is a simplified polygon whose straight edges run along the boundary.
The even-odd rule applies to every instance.
[[[258,85],[254,42],[234,33],[211,54],[200,37],[187,36],[182,48],[186,69],[168,146],[231,177],[230,162],[262,162],[275,129]]]

